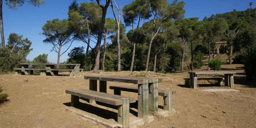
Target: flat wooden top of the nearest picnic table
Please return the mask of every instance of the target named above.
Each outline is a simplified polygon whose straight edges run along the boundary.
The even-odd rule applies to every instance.
[[[149,83],[153,83],[155,79],[163,81],[162,78],[149,78],[149,77],[130,77],[130,76],[84,76],[84,79],[113,81],[133,84],[143,84],[143,79],[148,79]]]

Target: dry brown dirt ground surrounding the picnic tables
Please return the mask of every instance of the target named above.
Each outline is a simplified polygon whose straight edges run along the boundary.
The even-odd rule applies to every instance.
[[[205,66],[201,70],[206,71],[206,68]],[[157,116],[153,122],[139,127],[255,128],[255,82],[246,81],[243,65],[222,65],[222,70],[237,72],[234,75],[234,89],[238,91],[203,91],[204,89],[230,89],[205,85],[207,81],[199,82],[203,85],[199,85],[198,89],[190,89],[184,85],[183,80],[189,77],[187,73],[189,70],[173,74],[147,72],[147,77],[163,78],[159,88],[176,90],[176,94],[173,95],[175,111],[167,117]],[[142,76],[143,72],[84,72],[84,75]],[[3,86],[4,92],[9,95],[9,101],[0,104],[0,127],[104,127],[66,109],[70,102],[70,95],[65,93],[65,89],[89,89],[89,80],[85,80],[83,76],[0,75],[0,86]],[[107,83],[108,86],[118,84],[120,83]],[[113,94],[113,90],[108,89],[107,93]],[[122,95],[137,97],[136,93],[130,92],[124,92]],[[161,104],[163,100],[159,97],[159,105]],[[109,118],[111,119],[111,115]]]

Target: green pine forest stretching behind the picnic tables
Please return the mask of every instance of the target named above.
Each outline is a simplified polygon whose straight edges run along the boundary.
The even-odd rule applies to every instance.
[[[73,41],[80,40],[85,45],[71,49],[64,63],[80,63],[84,70],[90,71],[96,67],[95,58],[98,57],[98,69],[103,71],[171,73],[200,68],[206,64],[203,60],[210,60],[217,54],[216,42],[227,41],[227,46],[221,46],[220,53],[230,56],[230,64],[243,63],[248,79],[256,76],[255,8],[211,15],[199,21],[197,17],[184,19],[185,3],[176,0],[173,3],[135,0],[124,7],[109,1],[109,7],[117,9],[119,14],[114,14],[115,19],[104,18],[101,30],[106,5],[103,7],[96,2],[78,5],[74,0],[69,6],[68,19],[53,19],[42,27],[46,37],[44,43],[53,45],[52,50],[58,53],[58,63],[59,57],[68,51],[61,52],[61,46],[71,46]],[[148,22],[139,27],[142,19],[148,19]],[[132,26],[127,33],[126,26]],[[111,42],[107,42],[109,39]],[[97,44],[104,43],[90,47],[95,40]],[[12,33],[4,46],[0,51],[2,72],[28,61],[26,56],[32,50],[28,38]],[[33,60],[41,61],[47,62],[46,54]],[[186,61],[191,61],[190,65],[185,65]]]

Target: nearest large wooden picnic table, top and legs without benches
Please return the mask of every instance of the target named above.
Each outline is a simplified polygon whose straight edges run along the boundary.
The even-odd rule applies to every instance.
[[[125,77],[125,76],[84,76],[89,79],[90,90],[97,91],[97,80],[99,80],[99,91],[107,92],[107,81],[138,84],[138,117],[147,122],[148,110],[158,112],[158,80],[161,78]],[[95,101],[90,100],[90,103]]]

